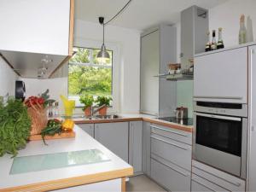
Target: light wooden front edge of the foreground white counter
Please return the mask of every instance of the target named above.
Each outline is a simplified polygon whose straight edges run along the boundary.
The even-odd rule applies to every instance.
[[[49,191],[55,189],[65,189],[70,187],[75,187],[78,185],[90,184],[90,183],[98,183],[108,180],[113,180],[116,178],[122,179],[122,189],[124,188],[124,178],[133,175],[133,168],[125,168],[120,170],[115,170],[111,172],[101,172],[96,174],[90,174],[85,176],[79,177],[70,177],[70,178],[63,178],[43,183],[34,183],[34,184],[27,184],[22,186],[17,186],[13,188],[6,188],[0,189],[0,192],[15,192],[15,191]]]

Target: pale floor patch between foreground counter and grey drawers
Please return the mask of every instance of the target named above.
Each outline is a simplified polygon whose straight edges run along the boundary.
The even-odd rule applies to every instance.
[[[126,183],[126,191],[166,192],[165,189],[161,188],[157,183],[154,183],[154,181],[144,175],[130,177],[130,181]]]

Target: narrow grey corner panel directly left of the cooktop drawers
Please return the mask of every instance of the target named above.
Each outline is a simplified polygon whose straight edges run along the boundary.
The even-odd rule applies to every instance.
[[[150,176],[150,123],[143,121],[143,173]]]

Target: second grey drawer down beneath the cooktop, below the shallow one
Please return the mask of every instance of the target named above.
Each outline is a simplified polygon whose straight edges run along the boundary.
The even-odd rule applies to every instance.
[[[191,146],[172,139],[151,134],[151,154],[169,160],[177,166],[191,170]]]

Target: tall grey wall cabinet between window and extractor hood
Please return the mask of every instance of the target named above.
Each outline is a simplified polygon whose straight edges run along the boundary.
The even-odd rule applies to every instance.
[[[160,73],[168,72],[168,63],[177,62],[176,33],[176,28],[173,26],[160,26],[142,34],[140,95],[142,113],[166,116],[171,115],[176,108],[176,83],[155,77]]]

